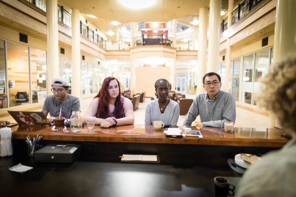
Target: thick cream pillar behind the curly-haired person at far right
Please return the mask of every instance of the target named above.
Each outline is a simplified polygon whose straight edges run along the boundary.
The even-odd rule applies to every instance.
[[[289,53],[296,51],[296,1],[278,0],[275,15],[275,39],[273,62],[281,62]],[[275,125],[276,116],[269,115],[269,128]]]

